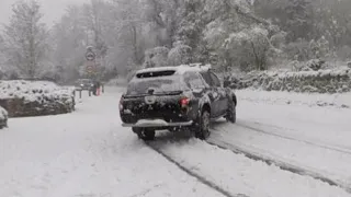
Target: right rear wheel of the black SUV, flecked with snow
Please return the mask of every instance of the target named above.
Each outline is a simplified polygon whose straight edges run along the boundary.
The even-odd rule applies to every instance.
[[[195,138],[201,140],[205,140],[210,137],[210,121],[211,121],[211,114],[208,111],[204,109],[201,113],[201,116],[194,126]]]

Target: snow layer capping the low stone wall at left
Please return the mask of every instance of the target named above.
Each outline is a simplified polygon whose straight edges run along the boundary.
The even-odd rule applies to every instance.
[[[23,97],[25,101],[34,102],[43,96],[69,99],[71,95],[70,88],[61,88],[48,81],[0,81],[0,100]]]

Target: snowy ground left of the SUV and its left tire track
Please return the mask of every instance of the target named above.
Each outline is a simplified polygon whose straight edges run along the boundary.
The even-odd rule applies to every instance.
[[[121,127],[117,91],[84,97],[73,114],[10,119],[0,196],[220,197]]]

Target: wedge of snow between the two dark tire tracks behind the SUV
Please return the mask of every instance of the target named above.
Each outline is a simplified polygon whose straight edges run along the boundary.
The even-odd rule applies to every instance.
[[[165,142],[154,144],[161,152],[180,161],[196,174],[217,183],[230,194],[250,197],[310,197],[350,196],[347,192],[316,182],[312,177],[282,171],[274,165],[250,160],[241,154],[208,146],[200,140]]]

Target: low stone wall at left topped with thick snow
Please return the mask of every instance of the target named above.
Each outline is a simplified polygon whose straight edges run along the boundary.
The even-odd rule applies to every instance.
[[[73,90],[48,81],[0,81],[0,105],[9,117],[70,113],[75,109]]]

